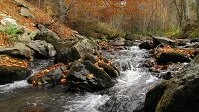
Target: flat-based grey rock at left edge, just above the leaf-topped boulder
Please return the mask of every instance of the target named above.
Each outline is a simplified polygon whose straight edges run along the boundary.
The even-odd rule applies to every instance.
[[[0,49],[0,54],[7,54],[18,58],[31,58],[34,53],[33,50],[23,43],[14,43],[13,47]]]

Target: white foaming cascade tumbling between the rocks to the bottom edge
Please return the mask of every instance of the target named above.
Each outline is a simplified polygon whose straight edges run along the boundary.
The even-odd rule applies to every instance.
[[[143,106],[148,89],[159,81],[143,68],[139,68],[142,60],[148,55],[146,50],[137,46],[113,54],[104,52],[109,59],[114,59],[120,67],[121,76],[117,84],[106,90],[103,95],[87,93],[85,96],[65,100],[65,112],[132,112]]]

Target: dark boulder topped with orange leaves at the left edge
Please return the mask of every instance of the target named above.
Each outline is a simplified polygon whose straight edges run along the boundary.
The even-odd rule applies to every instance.
[[[30,76],[29,62],[7,55],[0,55],[0,84],[25,80]]]

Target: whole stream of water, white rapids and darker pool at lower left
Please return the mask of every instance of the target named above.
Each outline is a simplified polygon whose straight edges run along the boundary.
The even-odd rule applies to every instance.
[[[137,46],[105,56],[120,65],[121,75],[117,84],[96,93],[66,92],[63,86],[54,88],[33,88],[26,81],[0,86],[0,112],[133,112],[143,107],[145,94],[160,82],[140,67],[148,52]],[[40,66],[51,61],[41,62]],[[38,63],[37,63],[38,64]]]

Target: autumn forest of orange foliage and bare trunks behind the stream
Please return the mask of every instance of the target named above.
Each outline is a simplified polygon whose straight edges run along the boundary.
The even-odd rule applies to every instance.
[[[197,0],[27,1],[86,36],[95,36],[100,30],[100,33],[108,33],[107,29],[112,29],[113,34],[172,36],[199,19]],[[93,26],[87,23],[93,23]],[[85,31],[94,29],[97,31]]]

